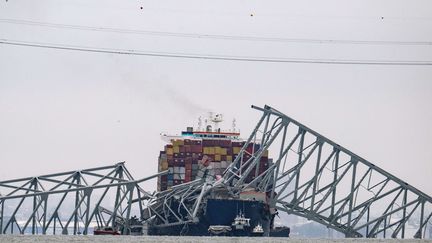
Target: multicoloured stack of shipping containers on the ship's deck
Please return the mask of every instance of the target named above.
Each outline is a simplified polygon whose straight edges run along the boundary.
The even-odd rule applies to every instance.
[[[173,139],[165,145],[159,155],[159,171],[168,170],[168,174],[158,178],[158,191],[165,191],[172,186],[193,181],[203,176],[218,177],[238,156],[245,142],[231,139]],[[247,151],[252,154],[259,149],[259,144],[249,144]],[[204,160],[203,160],[204,158]],[[243,162],[250,155],[243,156]],[[206,163],[205,163],[206,162]],[[260,159],[258,174],[269,167],[268,151]],[[254,169],[255,170],[255,169]],[[206,171],[206,172],[205,172]],[[246,179],[254,179],[252,173]]]

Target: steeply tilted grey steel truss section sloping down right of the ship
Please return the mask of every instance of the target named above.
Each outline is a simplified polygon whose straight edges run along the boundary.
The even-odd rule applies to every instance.
[[[261,146],[252,153],[242,149],[225,183],[256,187],[270,194],[279,211],[346,237],[425,237],[430,196],[270,106],[252,108],[262,116],[248,140]],[[259,175],[259,159],[268,148],[273,165]],[[246,155],[245,162],[240,157]],[[245,184],[249,173],[255,179]]]

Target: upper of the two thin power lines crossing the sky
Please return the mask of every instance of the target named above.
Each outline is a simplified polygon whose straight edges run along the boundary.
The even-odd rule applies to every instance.
[[[138,35],[152,35],[152,36],[165,36],[165,37],[168,36],[168,37],[237,40],[237,41],[262,41],[262,42],[308,43],[308,44],[350,44],[350,45],[351,44],[352,45],[416,45],[416,46],[432,45],[432,41],[336,40],[336,39],[302,39],[302,38],[259,37],[259,36],[212,35],[212,34],[197,34],[197,33],[119,29],[119,28],[94,27],[94,26],[85,26],[85,25],[68,25],[68,24],[56,24],[56,23],[49,23],[49,22],[18,20],[18,19],[0,19],[0,23],[41,26],[41,27],[49,27],[49,28],[61,28],[61,29],[98,31],[98,32],[112,32],[112,33],[121,33],[121,34],[138,34]]]

